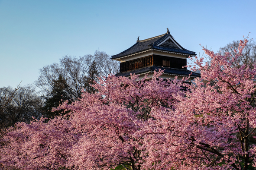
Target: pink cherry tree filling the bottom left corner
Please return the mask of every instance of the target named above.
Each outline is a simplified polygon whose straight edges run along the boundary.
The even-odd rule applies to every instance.
[[[69,150],[77,141],[70,122],[58,117],[44,123],[45,118],[30,124],[17,123],[3,137],[0,168],[7,170],[58,170],[67,162]]]

